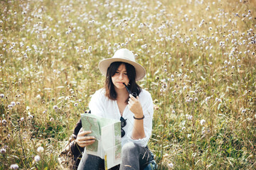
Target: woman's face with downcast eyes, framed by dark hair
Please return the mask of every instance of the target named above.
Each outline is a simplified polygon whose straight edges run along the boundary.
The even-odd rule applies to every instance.
[[[127,76],[127,70],[126,70],[124,64],[121,64],[118,67],[114,76],[112,76],[112,82],[114,84],[114,88],[117,88],[117,89],[124,89],[125,88],[124,84],[129,84],[129,79],[128,79],[128,76]]]

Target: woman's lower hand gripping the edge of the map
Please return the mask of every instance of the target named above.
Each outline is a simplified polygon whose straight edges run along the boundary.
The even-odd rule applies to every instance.
[[[75,142],[80,146],[80,147],[86,147],[87,145],[92,145],[93,142],[95,142],[95,137],[93,136],[85,136],[87,134],[90,134],[92,131],[82,131],[82,128],[78,132],[78,136],[75,140]]]

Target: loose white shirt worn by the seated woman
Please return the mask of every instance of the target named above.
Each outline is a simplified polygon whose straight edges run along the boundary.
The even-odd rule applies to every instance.
[[[132,129],[134,124],[134,118],[132,111],[129,110],[128,106],[124,108],[122,117],[127,119],[127,125],[124,126],[123,130],[125,132],[124,137],[122,137],[122,146],[127,142],[134,142],[142,147],[146,147],[152,132],[152,119],[153,119],[153,101],[151,94],[148,91],[142,89],[139,94],[139,101],[142,104],[142,111],[145,116],[144,118],[144,131],[146,137],[139,140],[132,139]],[[93,115],[99,115],[103,118],[112,118],[120,120],[121,114],[117,106],[117,101],[110,100],[105,96],[105,89],[100,89],[92,95],[91,101],[89,103],[90,111]]]

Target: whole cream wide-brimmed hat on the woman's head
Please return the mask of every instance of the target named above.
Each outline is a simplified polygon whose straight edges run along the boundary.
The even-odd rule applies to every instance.
[[[114,52],[114,55],[112,58],[108,58],[100,61],[99,69],[103,75],[106,76],[107,68],[110,67],[110,64],[112,62],[127,62],[128,64],[131,64],[136,71],[136,80],[142,79],[146,74],[146,70],[144,69],[144,67],[142,67],[141,64],[138,64],[137,62],[135,62],[134,54],[130,50],[127,50],[126,48],[121,48],[116,52]]]

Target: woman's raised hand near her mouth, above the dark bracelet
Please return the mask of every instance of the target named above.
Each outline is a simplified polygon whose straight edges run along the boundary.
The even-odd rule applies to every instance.
[[[129,94],[129,101],[128,101],[128,108],[132,113],[134,113],[135,118],[142,118],[143,117],[143,111],[142,111],[142,105],[139,102],[139,96],[137,98],[134,98],[132,94]]]

